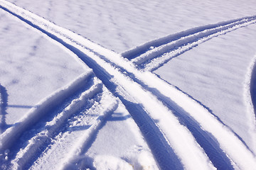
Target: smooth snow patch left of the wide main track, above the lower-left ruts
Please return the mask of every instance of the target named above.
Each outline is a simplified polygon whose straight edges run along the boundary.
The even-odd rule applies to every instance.
[[[8,126],[88,67],[9,13],[1,10],[0,15],[0,84],[8,100],[2,123]]]

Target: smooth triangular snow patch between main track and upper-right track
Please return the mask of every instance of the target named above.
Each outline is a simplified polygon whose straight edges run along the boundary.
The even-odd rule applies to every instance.
[[[255,150],[255,113],[247,109],[245,78],[256,54],[255,25],[213,38],[155,71],[196,98]],[[249,73],[250,74],[250,73]]]

